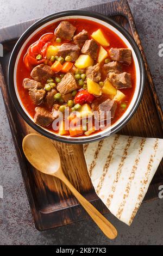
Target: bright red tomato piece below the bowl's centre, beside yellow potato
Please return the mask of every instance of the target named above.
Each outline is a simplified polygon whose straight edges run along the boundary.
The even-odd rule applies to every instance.
[[[91,103],[94,99],[95,99],[95,96],[87,92],[87,90],[80,90],[75,96],[74,102],[79,103],[80,105],[83,105],[85,102]]]

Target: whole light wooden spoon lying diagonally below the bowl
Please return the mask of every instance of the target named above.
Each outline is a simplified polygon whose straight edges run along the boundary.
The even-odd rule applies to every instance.
[[[62,171],[60,156],[52,142],[41,135],[31,133],[23,139],[23,151],[28,161],[40,172],[62,180],[93,221],[110,239],[117,236],[117,230],[106,218],[72,186]]]

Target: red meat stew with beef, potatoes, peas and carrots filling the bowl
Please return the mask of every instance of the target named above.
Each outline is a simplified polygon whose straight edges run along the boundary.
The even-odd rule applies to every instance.
[[[61,136],[101,131],[102,126],[95,128],[95,111],[104,121],[110,112],[110,125],[114,124],[127,110],[135,83],[131,50],[110,29],[83,19],[44,28],[24,47],[17,66],[17,88],[24,107],[36,124]],[[65,109],[73,129],[63,126]],[[53,121],[60,113],[62,124],[54,130]],[[78,124],[83,117],[84,125]]]

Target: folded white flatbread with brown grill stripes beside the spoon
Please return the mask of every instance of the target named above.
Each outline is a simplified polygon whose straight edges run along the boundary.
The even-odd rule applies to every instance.
[[[112,214],[130,225],[163,156],[163,139],[113,135],[84,145],[93,186]]]

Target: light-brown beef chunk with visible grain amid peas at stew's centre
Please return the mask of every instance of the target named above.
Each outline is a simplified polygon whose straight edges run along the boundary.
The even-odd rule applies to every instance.
[[[67,73],[61,80],[60,83],[58,83],[57,90],[61,93],[61,95],[65,95],[67,93],[72,92],[73,90],[76,90],[77,83],[74,78],[74,76],[71,73]]]

